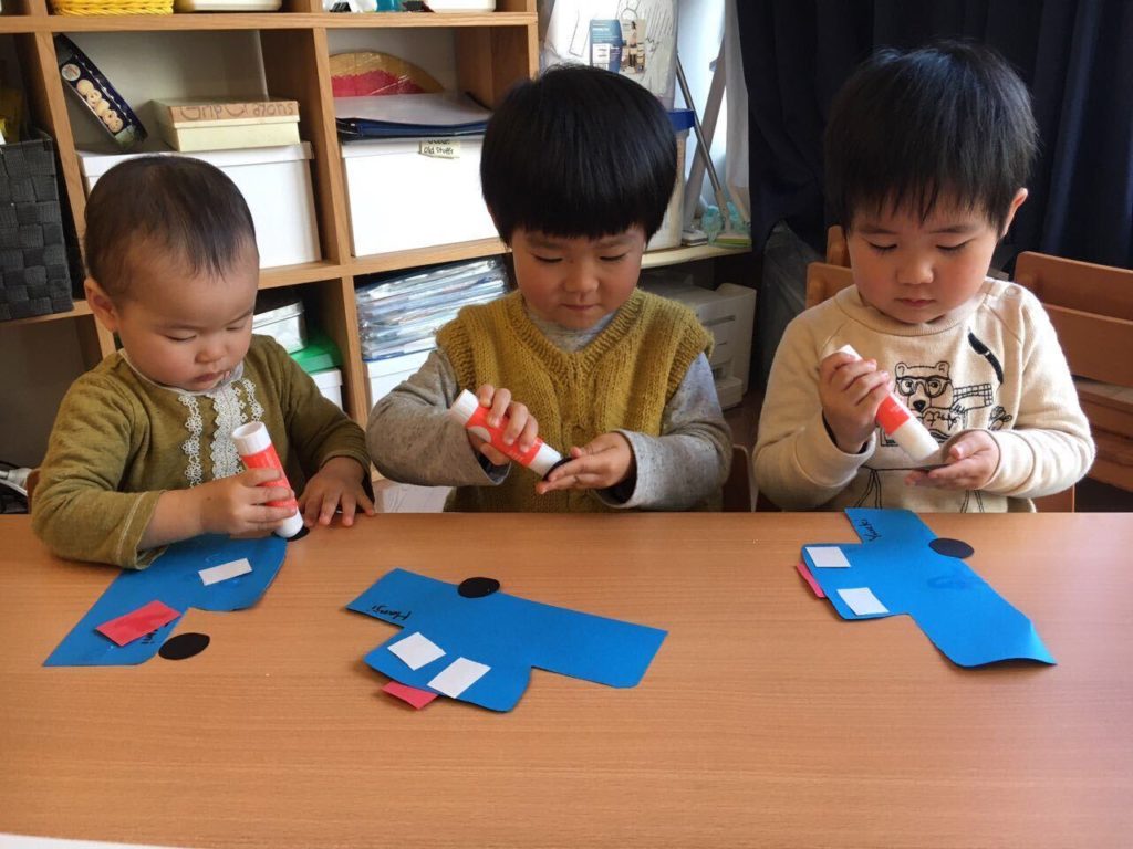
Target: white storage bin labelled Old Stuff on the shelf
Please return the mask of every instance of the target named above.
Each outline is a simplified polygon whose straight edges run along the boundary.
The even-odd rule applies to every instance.
[[[343,144],[353,255],[496,238],[480,195],[483,143],[461,136]]]

